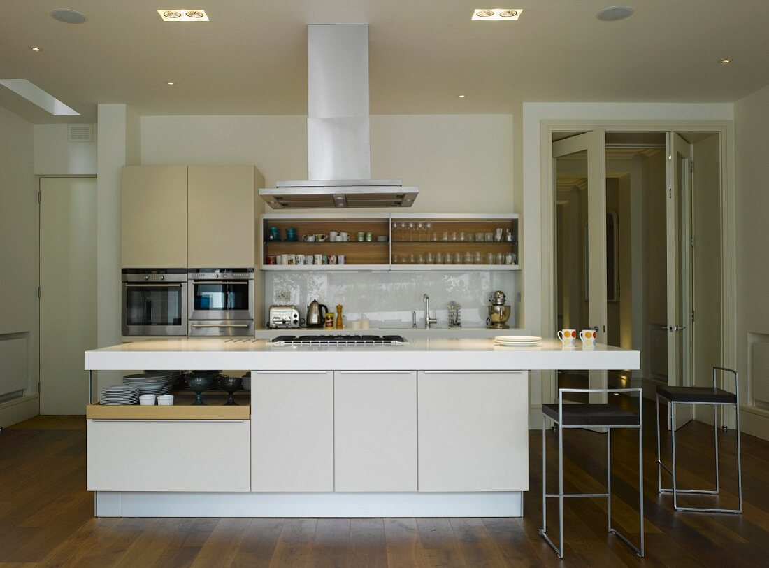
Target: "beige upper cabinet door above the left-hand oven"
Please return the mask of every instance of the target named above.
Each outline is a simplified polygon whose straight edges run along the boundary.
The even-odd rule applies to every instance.
[[[126,165],[120,186],[121,266],[187,267],[187,166]]]

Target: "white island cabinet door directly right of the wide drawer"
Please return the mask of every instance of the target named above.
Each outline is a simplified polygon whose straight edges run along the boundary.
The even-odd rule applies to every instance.
[[[251,491],[334,490],[334,373],[251,373]]]

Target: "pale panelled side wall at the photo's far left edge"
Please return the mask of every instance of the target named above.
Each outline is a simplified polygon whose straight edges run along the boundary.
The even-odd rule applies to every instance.
[[[0,358],[0,373],[26,374],[25,396],[0,403],[0,426],[38,413],[38,217],[32,155],[32,123],[0,107],[0,343],[22,339],[26,344],[26,353],[8,356],[4,351]]]

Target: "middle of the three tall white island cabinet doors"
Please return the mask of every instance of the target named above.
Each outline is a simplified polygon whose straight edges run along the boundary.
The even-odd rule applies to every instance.
[[[417,373],[334,373],[337,491],[417,490]]]

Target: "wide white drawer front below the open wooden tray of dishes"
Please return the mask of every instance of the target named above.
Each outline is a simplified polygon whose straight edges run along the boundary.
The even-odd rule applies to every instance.
[[[88,491],[248,491],[248,420],[88,420]]]

